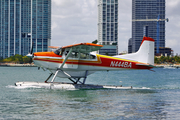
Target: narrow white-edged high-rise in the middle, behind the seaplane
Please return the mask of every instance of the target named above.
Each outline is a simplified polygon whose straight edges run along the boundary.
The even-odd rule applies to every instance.
[[[98,0],[98,43],[100,54],[118,53],[118,0]]]

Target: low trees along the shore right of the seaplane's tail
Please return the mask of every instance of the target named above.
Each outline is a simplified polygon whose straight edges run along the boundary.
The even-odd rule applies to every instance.
[[[174,56],[174,57],[170,57],[170,56],[161,56],[161,57],[155,57],[154,58],[154,63],[156,64],[178,64],[180,63],[180,56]]]

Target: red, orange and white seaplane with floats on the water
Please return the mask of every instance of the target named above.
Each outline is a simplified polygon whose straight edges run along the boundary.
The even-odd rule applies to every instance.
[[[49,46],[50,52],[31,52],[27,55],[34,64],[50,75],[44,82],[16,82],[16,86],[40,86],[59,89],[112,88],[131,89],[123,86],[85,84],[87,76],[97,71],[151,70],[154,67],[154,39],[143,37],[136,53],[106,56],[97,54],[103,45],[79,43],[69,46]],[[67,78],[71,83],[55,82],[55,78]],[[51,78],[51,81],[49,79]],[[48,82],[49,81],[49,82]]]

